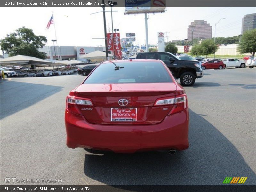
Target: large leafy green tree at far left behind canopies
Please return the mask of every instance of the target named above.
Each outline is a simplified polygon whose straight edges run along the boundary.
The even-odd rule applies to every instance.
[[[36,36],[32,29],[22,27],[0,39],[0,46],[9,56],[27,55],[45,59],[47,54],[38,51],[38,48],[43,48],[46,42],[45,36]]]

